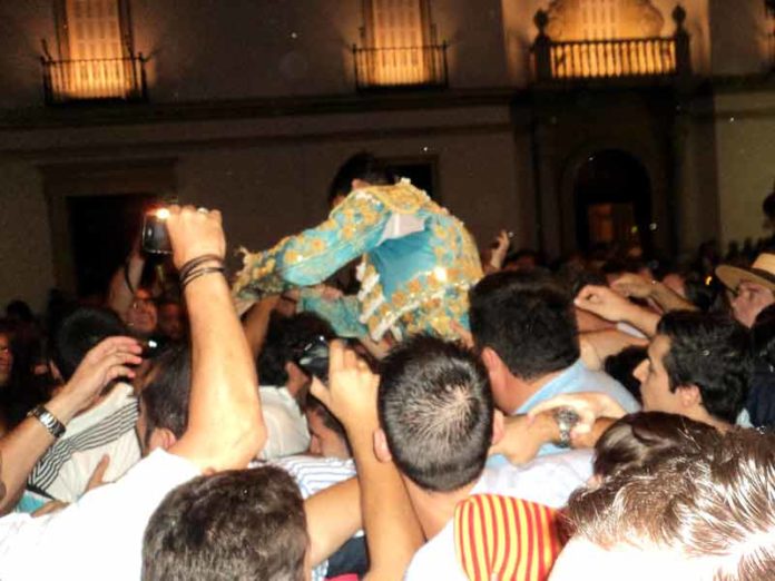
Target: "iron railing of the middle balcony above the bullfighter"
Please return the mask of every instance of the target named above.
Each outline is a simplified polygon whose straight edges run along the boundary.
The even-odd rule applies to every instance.
[[[355,88],[447,87],[447,42],[405,48],[353,46]]]

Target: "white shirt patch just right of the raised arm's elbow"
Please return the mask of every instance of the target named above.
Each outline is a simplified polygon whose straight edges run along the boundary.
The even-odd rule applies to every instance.
[[[310,429],[298,404],[285,387],[261,386],[261,410],[266,425],[262,460],[290,456],[310,447]]]

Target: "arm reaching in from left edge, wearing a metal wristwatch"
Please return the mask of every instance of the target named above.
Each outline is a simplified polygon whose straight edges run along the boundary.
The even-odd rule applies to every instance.
[[[91,405],[102,388],[117,377],[131,377],[127,365],[141,362],[141,347],[130,337],[110,337],[87,353],[70,381],[42,408],[62,426],[67,426],[78,412]],[[42,415],[42,420],[47,416]],[[16,506],[24,491],[27,477],[51,444],[56,429],[50,431],[41,420],[27,417],[0,440],[2,479],[6,495],[0,495],[0,514]],[[61,434],[60,434],[61,435]]]

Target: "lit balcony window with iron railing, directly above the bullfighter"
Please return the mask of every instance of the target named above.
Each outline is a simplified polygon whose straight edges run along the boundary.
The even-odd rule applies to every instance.
[[[359,89],[447,85],[447,45],[435,40],[429,0],[364,0]]]

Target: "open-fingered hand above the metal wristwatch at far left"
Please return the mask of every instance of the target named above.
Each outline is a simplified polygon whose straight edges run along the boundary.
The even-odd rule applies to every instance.
[[[143,363],[141,353],[140,344],[133,337],[106,338],[86,354],[76,373],[62,388],[61,395],[73,403],[75,413],[85,410],[111,381],[118,377],[134,377],[135,371],[129,365]],[[63,417],[59,420],[66,421]]]

